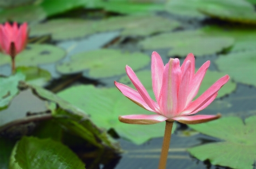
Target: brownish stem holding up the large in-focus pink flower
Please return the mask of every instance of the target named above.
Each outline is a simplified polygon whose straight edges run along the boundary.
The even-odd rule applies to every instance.
[[[166,161],[168,157],[169,145],[171,140],[171,129],[173,129],[173,122],[166,121],[165,136],[163,136],[163,145],[162,145],[162,151],[161,151],[161,157],[160,157],[158,169],[166,168]]]

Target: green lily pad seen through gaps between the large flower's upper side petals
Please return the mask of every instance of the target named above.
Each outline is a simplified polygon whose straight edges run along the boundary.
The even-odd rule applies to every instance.
[[[197,70],[196,70],[197,71]],[[136,72],[137,77],[140,79],[141,83],[144,85],[146,89],[152,90],[152,77],[151,77],[151,71],[139,71]],[[220,77],[225,76],[225,73],[223,72],[217,72],[217,71],[210,71],[208,70],[206,75],[204,76],[204,80],[202,84],[200,85],[198,95],[199,97],[201,94],[205,92],[213,83],[215,83]],[[120,83],[126,84],[130,86],[131,88],[135,89],[131,81],[129,80],[128,76],[123,76],[119,80]],[[229,94],[233,92],[236,89],[236,83],[232,82],[231,80],[226,83],[223,88],[221,88],[218,92],[217,97],[223,97],[226,94]],[[154,96],[153,96],[154,98]]]

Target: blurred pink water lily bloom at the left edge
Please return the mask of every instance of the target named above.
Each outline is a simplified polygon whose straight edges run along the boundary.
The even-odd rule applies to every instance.
[[[24,49],[27,37],[27,23],[23,23],[20,27],[16,22],[12,25],[8,22],[0,24],[0,50],[11,57],[15,57]]]

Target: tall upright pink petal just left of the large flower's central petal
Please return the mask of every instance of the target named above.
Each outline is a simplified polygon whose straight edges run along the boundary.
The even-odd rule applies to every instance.
[[[154,51],[152,53],[152,61],[151,61],[151,71],[152,71],[152,86],[154,95],[156,96],[156,101],[159,99],[162,80],[163,80],[163,69],[165,66],[163,65],[163,61],[158,53]]]

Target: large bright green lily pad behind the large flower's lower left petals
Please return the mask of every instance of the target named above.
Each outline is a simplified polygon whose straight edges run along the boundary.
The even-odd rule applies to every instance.
[[[149,91],[150,94],[153,91]],[[90,114],[99,127],[114,128],[119,136],[142,144],[153,137],[162,137],[165,123],[154,125],[125,124],[119,115],[153,114],[125,98],[116,88],[95,88],[93,85],[79,85],[66,89],[58,96]],[[82,98],[82,99],[81,99]],[[174,131],[175,127],[173,128]]]

